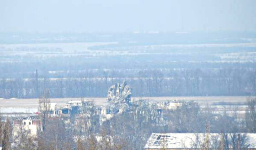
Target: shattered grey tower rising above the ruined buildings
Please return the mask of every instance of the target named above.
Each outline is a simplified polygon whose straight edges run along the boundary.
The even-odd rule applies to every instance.
[[[116,83],[108,90],[107,101],[112,113],[123,112],[131,105],[132,88],[124,81],[122,85]]]

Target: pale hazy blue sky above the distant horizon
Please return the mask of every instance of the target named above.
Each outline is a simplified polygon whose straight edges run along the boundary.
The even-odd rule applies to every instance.
[[[0,32],[256,31],[256,0],[0,0]]]

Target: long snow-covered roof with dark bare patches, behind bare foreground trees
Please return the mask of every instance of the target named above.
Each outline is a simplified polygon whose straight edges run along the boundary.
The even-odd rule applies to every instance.
[[[241,137],[244,135],[248,137],[248,140],[245,140],[249,145],[248,148],[256,149],[256,134],[240,133]],[[144,149],[163,149],[163,147],[167,149],[200,149],[200,143],[206,141],[206,136],[205,133],[152,133]],[[213,139],[220,141],[221,135],[210,133],[208,138],[209,141],[213,141]],[[228,134],[228,139],[230,139],[230,134]],[[209,143],[209,148],[214,148],[214,142]]]

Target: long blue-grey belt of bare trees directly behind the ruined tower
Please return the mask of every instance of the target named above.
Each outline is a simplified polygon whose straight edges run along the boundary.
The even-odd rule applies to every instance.
[[[127,75],[128,74],[128,75]],[[73,76],[74,75],[74,76]],[[29,79],[2,78],[0,97],[37,98],[42,89],[50,97],[106,97],[110,85],[127,80],[133,96],[255,95],[256,69],[85,70],[51,78],[32,74]]]

